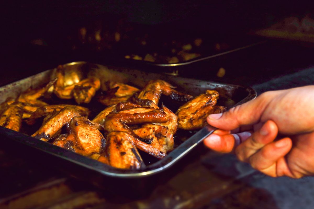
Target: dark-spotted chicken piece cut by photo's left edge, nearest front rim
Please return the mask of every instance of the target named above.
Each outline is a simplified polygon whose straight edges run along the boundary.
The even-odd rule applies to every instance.
[[[21,102],[14,102],[8,105],[0,117],[0,126],[19,131],[22,124],[23,108]]]

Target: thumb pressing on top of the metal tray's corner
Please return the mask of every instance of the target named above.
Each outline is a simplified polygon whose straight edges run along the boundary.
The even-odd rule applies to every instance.
[[[272,93],[265,92],[256,99],[233,107],[227,112],[209,115],[207,122],[223,130],[233,130],[242,125],[258,123],[271,100]]]

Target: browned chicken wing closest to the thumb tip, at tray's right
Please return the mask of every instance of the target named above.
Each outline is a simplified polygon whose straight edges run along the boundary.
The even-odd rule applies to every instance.
[[[207,90],[205,94],[201,94],[179,107],[176,111],[178,128],[185,130],[203,128],[207,124],[206,117],[209,114],[225,112],[226,107],[215,106],[218,97],[217,91]]]

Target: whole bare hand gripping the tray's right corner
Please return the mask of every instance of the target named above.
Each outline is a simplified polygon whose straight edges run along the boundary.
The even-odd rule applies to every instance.
[[[314,175],[314,86],[265,92],[207,122],[219,129],[204,144],[217,152],[273,177]]]

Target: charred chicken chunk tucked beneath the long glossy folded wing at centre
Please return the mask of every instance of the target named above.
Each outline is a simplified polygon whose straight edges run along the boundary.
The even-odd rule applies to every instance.
[[[150,145],[165,154],[173,149],[173,133],[165,126],[148,123],[133,131],[139,137],[151,140]]]

